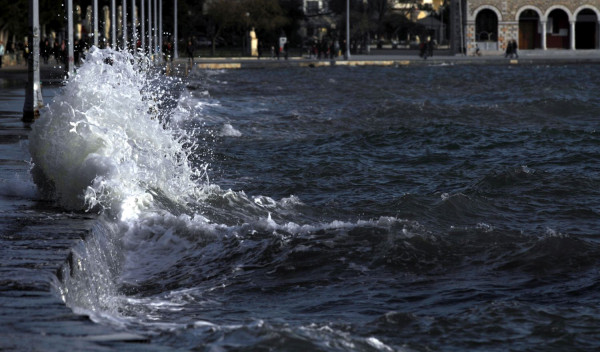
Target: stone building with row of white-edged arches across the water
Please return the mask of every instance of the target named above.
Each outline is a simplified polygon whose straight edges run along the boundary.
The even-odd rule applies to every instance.
[[[600,49],[600,0],[453,2],[454,43],[467,52],[503,51],[513,39],[519,49]]]

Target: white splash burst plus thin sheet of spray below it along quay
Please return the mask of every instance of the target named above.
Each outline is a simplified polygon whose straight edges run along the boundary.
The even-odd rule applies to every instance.
[[[138,224],[202,195],[205,166],[188,161],[193,137],[169,123],[178,88],[143,57],[94,47],[32,127],[38,189],[63,208],[100,213],[57,273],[62,299],[93,319],[122,318],[123,243]]]

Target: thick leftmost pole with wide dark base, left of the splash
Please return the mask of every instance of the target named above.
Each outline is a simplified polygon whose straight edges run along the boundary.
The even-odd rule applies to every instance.
[[[40,6],[38,0],[29,0],[29,42],[32,49],[27,60],[27,86],[25,88],[25,104],[23,105],[23,121],[33,122],[40,116],[44,106],[42,84],[40,82]]]

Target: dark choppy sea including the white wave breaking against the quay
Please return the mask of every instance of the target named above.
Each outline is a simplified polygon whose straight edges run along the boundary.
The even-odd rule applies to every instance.
[[[86,339],[97,327],[146,339],[126,344],[142,350],[600,346],[597,66],[202,71],[158,106],[156,82],[115,66],[82,70],[29,137],[54,202],[8,194],[33,187],[25,167],[0,180],[4,204],[24,203],[2,216],[43,225],[46,245],[26,253],[62,265],[58,278],[28,271],[37,286],[24,292],[51,294],[23,315],[62,297],[95,322],[63,312],[48,338],[123,348]],[[74,96],[92,80],[98,91]],[[27,233],[11,231],[9,250]],[[50,259],[62,233],[71,245]],[[53,324],[34,320],[13,330]]]

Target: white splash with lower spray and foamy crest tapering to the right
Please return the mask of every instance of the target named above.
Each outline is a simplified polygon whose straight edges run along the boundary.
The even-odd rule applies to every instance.
[[[295,196],[275,200],[211,185],[206,165],[190,161],[202,155],[194,136],[177,126],[193,114],[179,104],[188,98],[171,104],[171,110],[164,101],[171,83],[143,58],[92,48],[33,125],[29,140],[38,189],[64,208],[101,214],[57,275],[57,292],[74,312],[124,327],[171,329],[157,312],[195,304],[171,300],[178,297],[173,292],[200,291],[194,297],[201,297],[236,272],[206,284],[192,280],[179,287],[177,281],[163,291],[161,285],[185,274],[178,269],[183,262],[202,273],[205,267],[229,265],[220,261],[238,250],[260,254],[271,237],[286,246],[289,238],[308,241],[323,230],[343,238],[356,227],[405,226],[388,217],[303,223],[297,214],[306,205]],[[237,130],[229,126],[232,135]],[[239,246],[228,253],[237,239]],[[300,244],[283,253],[306,248]]]

